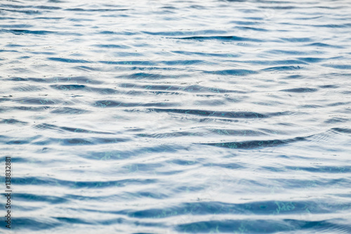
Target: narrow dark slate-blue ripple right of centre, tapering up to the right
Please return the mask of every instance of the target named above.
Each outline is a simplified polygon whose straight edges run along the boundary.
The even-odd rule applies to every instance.
[[[267,148],[267,147],[279,147],[289,143],[295,143],[298,141],[307,141],[304,137],[289,138],[284,140],[263,140],[263,141],[233,141],[233,142],[220,142],[220,143],[196,143],[198,145],[211,145],[220,148],[230,149],[256,149],[256,148]]]

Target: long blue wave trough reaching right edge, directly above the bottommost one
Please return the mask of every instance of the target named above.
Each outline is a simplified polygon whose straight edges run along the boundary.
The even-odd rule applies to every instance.
[[[225,202],[187,202],[162,209],[144,209],[140,211],[122,210],[115,214],[124,214],[140,219],[162,219],[179,215],[262,215],[278,216],[284,214],[326,214],[330,210],[349,209],[350,203],[312,202],[310,200],[277,200],[244,203]]]

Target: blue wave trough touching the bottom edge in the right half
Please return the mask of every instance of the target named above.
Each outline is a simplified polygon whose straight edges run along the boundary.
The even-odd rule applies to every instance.
[[[244,219],[222,221],[199,221],[179,224],[176,230],[185,233],[281,233],[289,231],[314,230],[319,232],[336,231],[341,225],[330,221],[301,221],[293,219],[267,220],[267,219]],[[343,226],[345,230],[351,230],[350,226]]]

